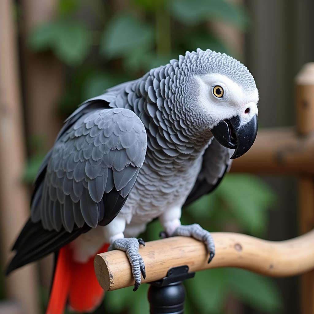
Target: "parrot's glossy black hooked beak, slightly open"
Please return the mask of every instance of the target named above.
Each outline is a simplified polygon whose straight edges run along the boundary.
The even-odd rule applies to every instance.
[[[219,122],[211,131],[214,138],[225,147],[236,149],[231,159],[245,154],[253,145],[257,135],[257,115],[244,125],[240,116]]]

